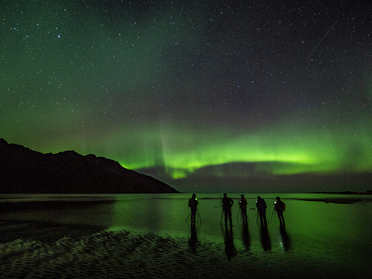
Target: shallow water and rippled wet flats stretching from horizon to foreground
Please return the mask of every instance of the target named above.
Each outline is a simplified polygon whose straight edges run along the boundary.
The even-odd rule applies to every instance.
[[[257,195],[272,218],[267,231],[256,223]],[[272,217],[277,195],[247,194],[245,226],[237,218],[239,194],[229,194],[233,227],[226,229],[222,195],[197,194],[195,230],[186,222],[190,194],[0,195],[0,276],[368,277],[371,196],[279,194],[283,230]],[[355,203],[333,203],[340,200]]]

